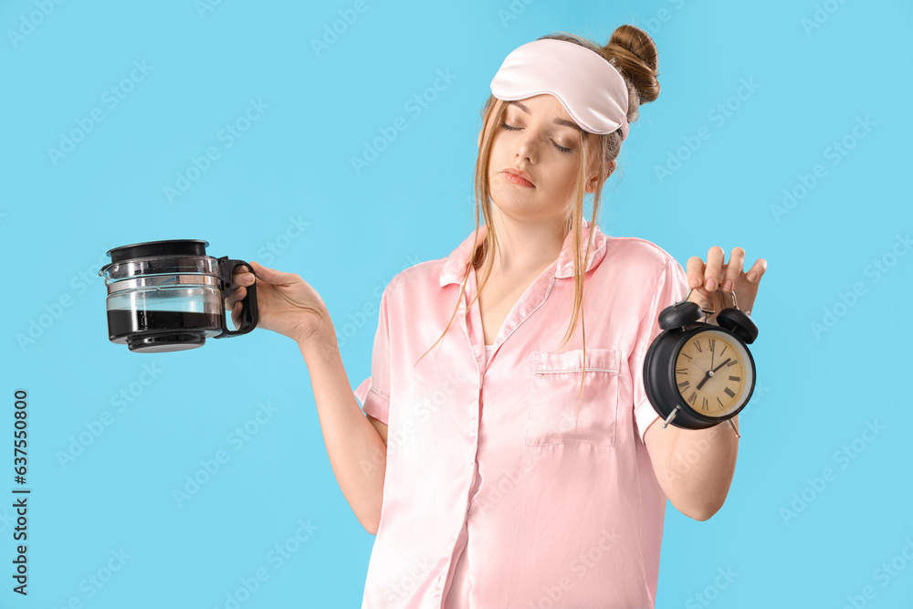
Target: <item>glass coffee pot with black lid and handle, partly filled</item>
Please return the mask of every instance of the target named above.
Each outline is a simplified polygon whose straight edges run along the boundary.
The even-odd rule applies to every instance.
[[[183,351],[207,338],[247,334],[257,327],[257,285],[241,301],[241,325],[226,326],[225,299],[236,289],[235,268],[244,260],[206,256],[198,239],[149,241],[108,251],[99,271],[108,286],[108,339],[131,352]]]

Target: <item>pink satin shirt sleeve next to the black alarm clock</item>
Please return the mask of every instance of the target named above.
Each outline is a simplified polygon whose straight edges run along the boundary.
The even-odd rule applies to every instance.
[[[647,308],[645,317],[641,320],[637,331],[635,351],[628,361],[634,378],[635,425],[642,444],[645,444],[644,438],[647,427],[660,418],[653,404],[650,404],[650,400],[646,397],[646,389],[644,387],[646,352],[650,349],[650,344],[653,343],[654,339],[663,331],[659,327],[660,311],[685,298],[687,290],[687,273],[685,269],[678,264],[675,258],[670,257],[656,282],[653,297],[650,299],[650,306]]]

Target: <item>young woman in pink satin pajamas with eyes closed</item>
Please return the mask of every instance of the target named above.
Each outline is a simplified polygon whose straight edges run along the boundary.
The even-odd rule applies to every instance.
[[[476,230],[384,290],[354,396],[317,292],[251,262],[259,326],[298,341],[333,472],[377,535],[362,607],[653,607],[666,499],[696,520],[722,506],[738,436],[653,425],[643,362],[689,287],[704,308],[732,290],[750,311],[767,263],[745,273],[740,247],[729,263],[711,247],[686,274],[594,223],[656,66],[634,26],[505,59],[483,110]],[[236,319],[245,293],[226,303]]]

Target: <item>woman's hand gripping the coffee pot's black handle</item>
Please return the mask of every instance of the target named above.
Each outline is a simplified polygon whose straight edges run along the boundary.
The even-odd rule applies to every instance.
[[[314,331],[330,320],[320,294],[299,275],[283,273],[251,261],[254,273],[246,266],[235,268],[232,280],[238,286],[226,298],[226,311],[231,311],[235,329],[241,325],[241,300],[247,296],[247,286],[257,283],[257,328],[278,332],[299,343],[310,339]]]

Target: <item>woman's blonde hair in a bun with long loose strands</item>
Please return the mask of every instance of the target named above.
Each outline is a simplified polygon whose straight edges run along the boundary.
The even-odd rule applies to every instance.
[[[653,38],[651,38],[644,30],[640,29],[639,27],[630,25],[619,26],[614,30],[612,36],[609,38],[609,42],[604,47],[597,45],[585,38],[576,37],[566,32],[557,32],[548,36],[540,37],[539,39],[541,40],[543,38],[564,40],[578,44],[582,47],[589,48],[590,50],[593,50],[594,52],[601,55],[606,61],[617,68],[624,78],[624,83],[627,85],[628,89],[628,122],[634,122],[637,119],[638,108],[641,104],[656,100],[656,98],[659,96],[659,82],[656,80],[656,76],[658,74],[656,44],[653,42]],[[447,331],[450,329],[450,326],[456,317],[456,311],[459,310],[459,303],[462,302],[463,294],[466,293],[466,282],[469,278],[470,265],[473,269],[482,268],[482,278],[477,286],[476,295],[473,297],[472,302],[469,303],[467,310],[472,309],[473,303],[475,303],[476,299],[478,298],[478,294],[482,291],[482,288],[485,287],[485,284],[488,281],[488,276],[491,274],[494,257],[489,256],[488,254],[496,249],[498,245],[498,236],[496,235],[496,231],[491,224],[491,197],[488,184],[488,160],[495,131],[497,131],[498,125],[501,122],[501,119],[504,115],[504,110],[507,108],[507,106],[507,102],[498,100],[494,96],[489,96],[488,100],[485,102],[485,106],[482,110],[481,115],[483,131],[481,142],[479,143],[478,147],[478,156],[476,159],[475,170],[476,230],[473,233],[473,243],[476,243],[478,236],[479,208],[482,210],[482,215],[485,216],[485,224],[488,226],[488,234],[483,240],[481,246],[477,249],[474,249],[473,256],[467,258],[464,277],[460,287],[459,298],[456,300],[456,307],[453,314],[450,316],[450,320],[447,322],[446,328],[441,333],[440,338],[438,338],[437,341],[435,341],[435,343],[428,348],[428,351],[426,351],[422,357],[418,359],[418,362],[421,362],[422,358],[424,358],[428,352],[434,349],[438,342],[443,340],[443,338],[446,336]],[[583,199],[586,186],[586,169],[588,166],[588,149],[586,147],[586,142],[591,141],[593,138],[595,139],[594,148],[596,149],[596,161],[599,168],[599,173],[596,178],[595,191],[593,192],[593,218],[591,219],[592,224],[590,227],[590,238],[587,239],[586,251],[581,256]],[[583,283],[586,268],[585,264],[587,258],[590,256],[590,248],[593,245],[593,225],[595,223],[595,218],[599,214],[599,205],[603,192],[603,183],[608,177],[608,173],[605,171],[605,165],[606,163],[614,161],[614,159],[618,157],[618,153],[621,151],[621,143],[622,139],[620,131],[614,131],[605,135],[581,132],[580,144],[582,157],[577,172],[577,185],[575,191],[576,196],[573,209],[568,215],[567,221],[563,225],[565,237],[569,232],[572,233],[571,246],[573,249],[574,301],[571,314],[571,322],[568,326],[568,331],[564,335],[563,341],[561,341],[561,344],[559,345],[559,349],[563,345],[567,344],[567,341],[571,340],[573,330],[577,325],[577,320],[580,319],[584,354],[583,373],[586,372],[586,331],[582,316]],[[415,362],[416,365],[418,362]],[[580,412],[583,380],[584,374],[581,374],[580,392],[577,396],[578,414]]]

